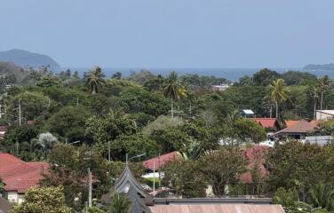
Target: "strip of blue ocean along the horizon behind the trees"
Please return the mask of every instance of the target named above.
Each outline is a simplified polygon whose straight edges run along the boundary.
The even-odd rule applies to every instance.
[[[62,70],[70,69],[72,73],[78,71],[79,75],[83,76],[84,72],[88,72],[90,67],[64,67]],[[197,74],[197,75],[213,75],[219,78],[226,78],[232,82],[236,82],[239,78],[244,75],[253,75],[259,68],[139,68],[139,67],[129,67],[129,68],[120,68],[120,67],[101,67],[107,77],[110,77],[115,72],[121,72],[123,76],[129,76],[134,72],[139,72],[140,70],[148,70],[155,75],[167,76],[171,71],[178,72],[179,75],[187,74]],[[278,73],[283,73],[289,70],[302,70],[301,68],[270,68]],[[334,71],[307,71],[317,76],[329,75],[330,78],[334,78]]]

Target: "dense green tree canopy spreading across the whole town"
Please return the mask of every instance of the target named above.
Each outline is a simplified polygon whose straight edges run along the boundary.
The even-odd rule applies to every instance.
[[[99,200],[121,174],[126,154],[141,154],[131,159],[141,162],[178,151],[181,158],[162,169],[165,176],[159,182],[176,195],[202,197],[208,188],[212,196],[237,190],[245,195],[237,187],[240,176],[250,171],[243,150],[266,140],[267,130],[242,117],[240,110],[279,117],[282,124],[285,119],[312,120],[316,109],[334,104],[328,77],[297,71],[263,69],[225,91],[212,91],[211,86],[229,83],[226,79],[176,72],[162,76],[143,70],[107,79],[100,67],[80,77],[70,70],[53,74],[48,67],[23,70],[0,64],[0,74],[0,122],[9,127],[0,151],[25,161],[50,162],[51,175],[42,185],[62,185],[64,203],[77,211],[87,200],[87,169],[97,178],[93,188]],[[310,134],[332,135],[333,130],[332,121],[322,122]],[[332,210],[333,151],[332,145],[277,143],[265,159],[270,175],[259,178],[253,168],[253,182],[260,183],[243,185],[261,184],[261,190],[247,193],[275,194],[275,201],[290,209],[303,201],[306,210]],[[131,169],[139,178],[145,173],[141,163]],[[321,193],[326,199],[316,198]]]

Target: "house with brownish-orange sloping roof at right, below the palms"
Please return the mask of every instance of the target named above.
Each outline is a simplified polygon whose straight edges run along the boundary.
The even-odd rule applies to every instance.
[[[271,137],[278,139],[282,138],[305,139],[306,134],[310,131],[313,131],[316,127],[317,127],[317,122],[314,121],[307,122],[306,120],[300,120],[283,130],[275,132]]]

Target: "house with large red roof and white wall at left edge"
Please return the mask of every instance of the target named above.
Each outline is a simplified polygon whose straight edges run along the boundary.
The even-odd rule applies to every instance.
[[[4,197],[13,203],[23,201],[24,193],[36,186],[49,172],[46,162],[23,162],[12,154],[0,154],[0,178]]]

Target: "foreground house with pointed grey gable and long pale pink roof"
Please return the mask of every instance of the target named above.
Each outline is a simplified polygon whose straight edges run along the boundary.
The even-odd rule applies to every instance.
[[[115,191],[125,193],[131,200],[130,213],[284,213],[282,206],[273,205],[270,198],[153,198],[133,177],[128,165],[110,193],[101,200],[111,203],[110,195]]]

